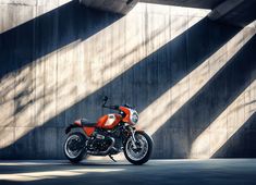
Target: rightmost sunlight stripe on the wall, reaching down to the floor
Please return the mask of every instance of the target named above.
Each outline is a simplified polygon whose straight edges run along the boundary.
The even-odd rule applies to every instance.
[[[193,141],[191,158],[210,158],[256,112],[256,81]]]

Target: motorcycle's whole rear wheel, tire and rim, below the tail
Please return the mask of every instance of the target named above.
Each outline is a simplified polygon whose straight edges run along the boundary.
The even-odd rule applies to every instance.
[[[71,133],[64,143],[63,150],[65,157],[72,162],[77,163],[83,160],[85,156],[86,137],[82,133]]]

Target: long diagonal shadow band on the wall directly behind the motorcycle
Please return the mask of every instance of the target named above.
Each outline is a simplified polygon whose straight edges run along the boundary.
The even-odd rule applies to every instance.
[[[0,149],[1,158],[49,159],[63,158],[61,146],[63,127],[74,119],[89,115],[96,120],[100,113],[102,95],[108,95],[113,103],[130,102],[143,111],[155,99],[187,75],[216,50],[223,46],[241,28],[217,24],[207,17],[145,58],[130,70],[87,96],[71,108],[36,127],[11,146]],[[47,127],[59,127],[45,133]],[[32,141],[33,140],[33,141]],[[47,156],[48,144],[54,150]]]

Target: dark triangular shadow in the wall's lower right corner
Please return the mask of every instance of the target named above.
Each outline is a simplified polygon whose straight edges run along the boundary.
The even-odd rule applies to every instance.
[[[256,113],[227,143],[215,152],[212,158],[255,158],[256,157]]]

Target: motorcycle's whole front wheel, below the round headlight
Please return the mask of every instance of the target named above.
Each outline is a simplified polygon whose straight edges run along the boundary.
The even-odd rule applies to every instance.
[[[145,132],[136,132],[136,146],[133,144],[133,138],[129,137],[124,144],[125,158],[135,165],[146,163],[153,152],[153,139]]]

